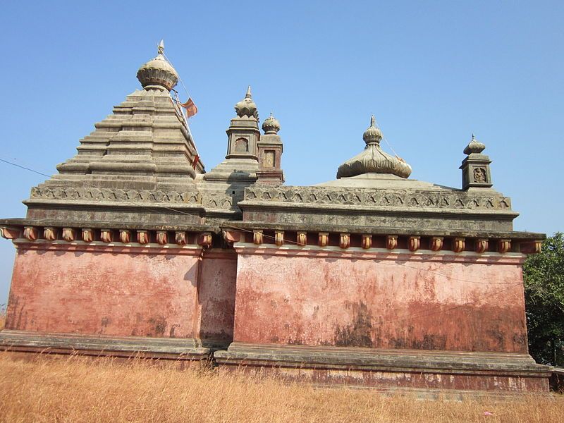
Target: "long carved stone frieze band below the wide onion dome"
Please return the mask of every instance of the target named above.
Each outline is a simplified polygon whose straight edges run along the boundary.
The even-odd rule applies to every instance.
[[[471,195],[466,192],[425,192],[407,190],[331,190],[319,187],[255,185],[245,188],[245,200],[339,204],[403,209],[510,209],[510,199],[501,195]]]

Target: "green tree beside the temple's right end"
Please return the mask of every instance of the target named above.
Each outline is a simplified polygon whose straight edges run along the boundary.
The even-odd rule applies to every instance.
[[[523,265],[529,353],[537,362],[564,366],[564,235],[546,238],[542,252]]]

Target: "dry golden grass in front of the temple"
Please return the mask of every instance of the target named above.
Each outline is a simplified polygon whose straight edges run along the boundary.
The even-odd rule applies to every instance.
[[[0,353],[1,422],[551,423],[563,416],[563,396],[416,400],[143,360]]]

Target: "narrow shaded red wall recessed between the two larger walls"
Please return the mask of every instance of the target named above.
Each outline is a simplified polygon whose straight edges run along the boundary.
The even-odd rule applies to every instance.
[[[233,341],[237,255],[233,250],[207,250],[202,259],[198,305],[199,337],[221,343]]]

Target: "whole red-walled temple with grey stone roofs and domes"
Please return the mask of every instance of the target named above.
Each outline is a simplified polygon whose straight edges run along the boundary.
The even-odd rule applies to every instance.
[[[1,348],[382,390],[548,391],[521,270],[545,235],[513,231],[482,142],[464,149],[462,188],[413,180],[372,116],[336,180],[287,186],[281,125],[271,114],[261,132],[249,87],[206,172],[163,51],[31,189],[25,218],[0,220],[17,249]]]

